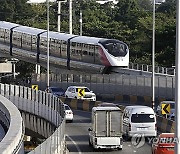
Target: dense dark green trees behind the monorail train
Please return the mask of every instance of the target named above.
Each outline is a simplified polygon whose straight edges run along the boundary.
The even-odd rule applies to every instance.
[[[46,5],[30,5],[27,0],[1,0],[0,20],[46,28]],[[61,31],[68,32],[68,3],[62,3]],[[126,42],[130,61],[151,64],[151,0],[119,0],[117,5],[95,0],[73,1],[73,33],[79,34],[79,13],[83,13],[83,35],[115,38]],[[158,65],[175,64],[176,1],[156,5],[155,56]],[[50,7],[50,29],[57,30],[57,4]],[[171,57],[171,58],[170,58]]]

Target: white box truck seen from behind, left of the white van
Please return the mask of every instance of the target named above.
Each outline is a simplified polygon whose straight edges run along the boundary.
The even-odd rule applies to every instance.
[[[123,146],[122,112],[118,107],[93,107],[89,145],[94,149],[119,149]]]

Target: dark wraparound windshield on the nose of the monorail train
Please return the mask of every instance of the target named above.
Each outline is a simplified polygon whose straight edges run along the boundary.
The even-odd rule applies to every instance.
[[[127,45],[118,40],[105,40],[100,41],[104,48],[115,57],[125,57],[127,54]]]

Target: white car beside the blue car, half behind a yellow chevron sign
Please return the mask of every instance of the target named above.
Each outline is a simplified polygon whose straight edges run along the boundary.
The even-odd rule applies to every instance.
[[[96,95],[89,88],[83,86],[70,86],[65,92],[65,97],[86,99],[90,101],[96,101]]]

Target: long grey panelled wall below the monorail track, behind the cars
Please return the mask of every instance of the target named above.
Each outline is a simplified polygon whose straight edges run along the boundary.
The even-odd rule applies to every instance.
[[[38,84],[41,90],[46,88],[46,74],[32,76],[32,84]],[[64,90],[68,86],[87,86],[96,95],[114,99],[116,96],[147,96],[152,95],[151,76],[122,74],[50,74],[50,85],[59,86]],[[173,76],[158,76],[155,78],[155,96],[172,100],[175,98],[175,79]]]

